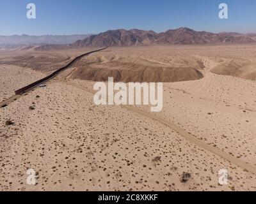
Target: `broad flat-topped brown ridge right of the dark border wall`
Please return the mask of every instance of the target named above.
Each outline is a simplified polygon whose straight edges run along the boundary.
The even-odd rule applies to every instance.
[[[204,66],[192,57],[175,57],[169,64],[131,56],[88,58],[86,65],[83,61],[76,65],[79,68],[72,72],[71,78],[96,82],[108,81],[108,77],[114,77],[115,82],[180,82],[203,77],[200,69]]]

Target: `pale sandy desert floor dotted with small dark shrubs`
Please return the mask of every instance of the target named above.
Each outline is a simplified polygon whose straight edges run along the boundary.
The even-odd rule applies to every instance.
[[[109,48],[90,57],[108,59],[109,55],[147,57],[164,64],[179,56],[200,60],[204,78],[164,83],[162,112],[150,113],[148,106],[134,108],[161,117],[203,144],[256,168],[255,81],[211,72],[223,59],[253,61],[255,47]],[[0,109],[2,191],[256,190],[255,174],[163,122],[124,106],[95,106],[94,82],[74,79],[69,74],[76,69]],[[45,70],[0,65],[1,99],[44,75]],[[6,120],[14,124],[6,126]],[[36,171],[35,186],[26,182],[28,169]],[[223,186],[218,184],[221,169],[228,171],[228,184]],[[190,175],[186,182],[184,173]]]

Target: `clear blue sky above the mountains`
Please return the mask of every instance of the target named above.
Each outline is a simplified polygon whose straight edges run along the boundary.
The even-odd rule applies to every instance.
[[[26,5],[36,4],[36,19]],[[228,4],[228,19],[218,5]],[[177,27],[196,31],[256,33],[255,0],[1,0],[0,35],[88,34],[109,29],[156,32]]]

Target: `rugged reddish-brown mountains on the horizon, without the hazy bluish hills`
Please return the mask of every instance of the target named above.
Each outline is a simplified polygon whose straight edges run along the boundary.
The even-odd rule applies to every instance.
[[[188,27],[170,29],[163,33],[138,29],[117,29],[77,40],[69,45],[44,45],[37,50],[79,47],[118,47],[139,45],[204,45],[207,43],[256,43],[256,34],[209,33]]]

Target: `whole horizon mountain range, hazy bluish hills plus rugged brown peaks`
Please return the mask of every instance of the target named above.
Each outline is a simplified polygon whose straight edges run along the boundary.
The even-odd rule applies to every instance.
[[[9,44],[6,42],[9,42]],[[218,43],[256,43],[256,34],[232,32],[210,33],[206,31],[194,31],[188,27],[180,27],[179,29],[170,29],[163,33],[139,29],[116,29],[99,34],[72,36],[0,36],[0,45],[40,45],[35,50],[140,45],[204,45]]]

